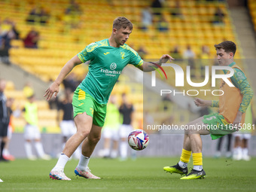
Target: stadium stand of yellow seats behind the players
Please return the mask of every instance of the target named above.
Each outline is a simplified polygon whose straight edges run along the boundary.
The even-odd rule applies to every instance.
[[[129,18],[135,24],[129,44],[134,45],[135,50],[138,50],[142,44],[145,45],[147,50],[145,59],[157,59],[162,53],[169,53],[172,47],[177,44],[181,53],[186,50],[187,45],[190,45],[195,53],[194,59],[200,59],[202,46],[208,46],[210,47],[209,58],[214,58],[215,49],[213,44],[224,39],[236,41],[236,33],[225,1],[182,0],[179,1],[182,17],[175,17],[171,15],[175,8],[175,1],[166,0],[160,12],[166,22],[169,23],[167,32],[160,32],[157,29],[159,17],[154,17],[154,22],[148,27],[148,30],[141,29],[142,9],[151,6],[151,1],[148,0],[97,0],[93,2],[77,0],[75,2],[79,5],[80,10],[66,14],[66,10],[70,6],[69,0],[45,0],[44,3],[35,0],[1,1],[2,15],[17,23],[17,29],[20,31],[20,39],[11,41],[11,62],[43,81],[53,80],[68,59],[83,50],[85,45],[108,38],[112,27],[109,22],[120,15]],[[254,10],[254,5],[254,3],[251,5],[251,11]],[[27,22],[28,17],[29,20],[33,19],[33,16],[29,13],[34,8],[44,9],[46,13],[45,22],[41,23],[40,18],[38,19],[35,16],[33,22]],[[221,8],[224,14],[221,23],[213,23],[217,8]],[[156,11],[156,9],[153,8],[153,11]],[[256,14],[254,16],[256,17]],[[40,35],[37,49],[28,49],[23,46],[23,38],[31,29],[35,29]],[[236,58],[240,58],[240,56],[241,53],[238,49]],[[192,70],[194,75],[192,80],[201,82],[204,75],[201,71],[204,65],[198,60],[195,63]],[[214,61],[211,60],[211,63],[213,65]],[[179,64],[184,69],[187,62],[184,60]],[[78,79],[83,79],[84,74],[87,73],[87,67],[84,65],[78,66],[74,72]],[[166,74],[168,77],[175,75],[174,71],[168,71]],[[160,78],[160,76],[157,77]],[[168,81],[168,83],[174,85],[173,82]],[[137,88],[133,89],[133,87]],[[188,88],[187,84],[184,88]],[[209,87],[206,87],[206,89],[209,89]],[[142,85],[135,85],[135,83],[131,83],[129,77],[120,75],[120,82],[114,87],[113,93],[120,94],[123,92],[131,94],[130,99],[133,100],[137,109],[136,120],[141,120],[143,117]],[[10,95],[13,94],[10,92]],[[24,99],[18,92],[15,92],[15,97]],[[42,103],[39,114],[41,126],[44,126],[44,123],[47,123],[48,126],[57,126],[56,120],[54,121],[56,111],[49,111],[50,109]],[[177,105],[173,105],[174,108],[178,108]],[[177,110],[175,120],[187,122],[190,113],[187,110]],[[157,117],[157,121],[162,122],[168,114],[156,114],[155,117]],[[47,120],[43,123],[44,119]]]

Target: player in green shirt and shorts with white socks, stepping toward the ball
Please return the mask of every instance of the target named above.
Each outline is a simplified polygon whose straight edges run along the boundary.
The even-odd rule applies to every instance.
[[[73,96],[72,105],[77,133],[66,142],[62,155],[50,172],[50,178],[71,180],[64,174],[63,169],[81,142],[83,142],[82,154],[75,174],[84,178],[99,178],[90,172],[87,165],[97,142],[99,142],[108,97],[117,78],[129,63],[144,72],[154,70],[151,66],[156,67],[154,63],[143,61],[135,50],[125,44],[132,31],[133,23],[130,20],[127,20],[126,17],[117,17],[114,20],[110,38],[89,44],[78,55],[70,59],[53,84],[45,91],[44,97],[47,100],[54,93],[56,97],[59,92],[59,84],[66,75],[75,66],[90,60],[89,72]],[[171,59],[173,59],[171,56],[164,54],[156,64],[161,65]]]

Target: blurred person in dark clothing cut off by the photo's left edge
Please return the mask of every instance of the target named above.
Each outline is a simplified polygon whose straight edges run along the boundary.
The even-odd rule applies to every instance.
[[[0,79],[0,162],[8,161],[3,157],[3,150],[5,148],[5,143],[8,141],[7,133],[8,133],[8,124],[10,117],[8,115],[8,109],[6,105],[6,97],[4,94],[6,81],[4,79]]]

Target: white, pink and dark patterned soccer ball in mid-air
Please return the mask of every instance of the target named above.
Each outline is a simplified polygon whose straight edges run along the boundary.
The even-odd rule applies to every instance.
[[[134,130],[128,136],[128,143],[136,151],[145,149],[148,146],[149,137],[143,130]]]

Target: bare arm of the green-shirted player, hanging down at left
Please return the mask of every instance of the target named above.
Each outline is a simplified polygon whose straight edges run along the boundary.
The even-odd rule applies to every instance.
[[[44,97],[49,101],[49,99],[53,96],[55,93],[54,97],[57,96],[59,93],[59,85],[63,81],[63,79],[66,77],[66,75],[69,74],[69,72],[72,71],[72,69],[81,64],[81,60],[78,58],[78,56],[74,56],[72,59],[70,59],[65,66],[62,67],[61,71],[59,72],[58,77],[56,80],[53,82],[53,84],[50,85],[50,87],[45,91]]]

